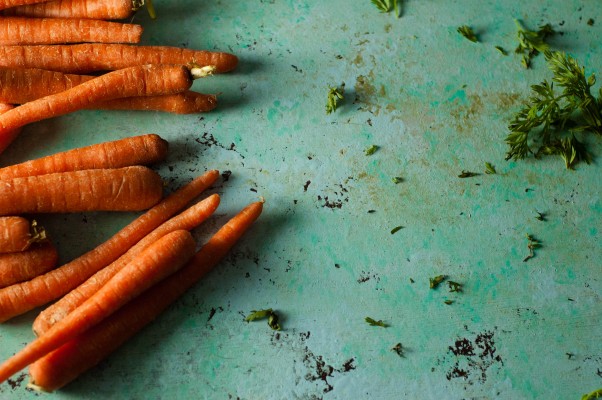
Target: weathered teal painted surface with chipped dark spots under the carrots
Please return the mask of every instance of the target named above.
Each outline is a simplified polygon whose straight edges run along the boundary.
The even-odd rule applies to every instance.
[[[146,43],[240,57],[195,82],[221,93],[218,109],[79,112],[28,127],[2,162],[156,132],[171,143],[156,167],[168,190],[232,171],[199,241],[259,195],[265,212],[194,290],[53,398],[576,399],[602,387],[600,141],[573,172],[507,162],[503,143],[529,85],[550,78],[543,57],[524,70],[512,54],[513,18],[550,22],[564,32],[552,45],[600,74],[599,2],[406,1],[400,19],[367,0],[156,3],[159,20],[136,17]],[[326,115],[327,86],[342,82]],[[457,178],[485,162],[498,174]],[[133,217],[40,219],[66,261]],[[523,262],[527,233],[543,247]],[[429,289],[438,274],[463,292]],[[244,322],[267,307],[283,331]],[[0,327],[2,358],[32,340],[34,316]],[[474,355],[455,355],[461,344]],[[36,397],[15,378],[0,398]]]

